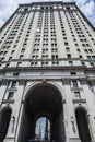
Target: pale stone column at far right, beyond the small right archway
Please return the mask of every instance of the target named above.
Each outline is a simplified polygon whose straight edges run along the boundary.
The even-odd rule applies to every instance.
[[[88,119],[88,127],[90,127],[90,132],[92,137],[92,142],[95,142],[95,105],[93,100],[93,92],[88,87],[88,83],[86,79],[81,79],[80,80],[84,94],[85,94],[85,99],[86,99],[86,106],[88,108],[87,110],[87,119]]]

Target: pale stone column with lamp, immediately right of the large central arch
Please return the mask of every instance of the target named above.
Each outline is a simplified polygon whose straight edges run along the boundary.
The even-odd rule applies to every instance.
[[[78,134],[78,128],[76,128],[76,120],[73,109],[73,102],[72,102],[72,94],[70,88],[70,80],[63,79],[62,84],[64,87],[64,94],[66,94],[66,109],[67,109],[67,120],[66,126],[68,126],[68,137],[69,142],[80,142],[79,134]]]

